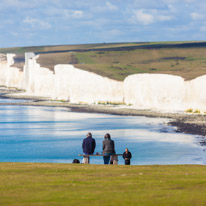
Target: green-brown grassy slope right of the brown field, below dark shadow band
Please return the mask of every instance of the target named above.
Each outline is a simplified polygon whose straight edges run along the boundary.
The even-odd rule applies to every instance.
[[[205,48],[161,48],[75,54],[77,67],[116,80],[136,73],[179,75],[186,80],[206,74]]]

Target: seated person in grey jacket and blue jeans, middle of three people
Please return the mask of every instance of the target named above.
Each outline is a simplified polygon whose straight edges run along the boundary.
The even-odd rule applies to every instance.
[[[110,156],[115,154],[114,141],[111,140],[111,136],[109,133],[104,135],[102,149],[103,149],[104,164],[109,164]]]

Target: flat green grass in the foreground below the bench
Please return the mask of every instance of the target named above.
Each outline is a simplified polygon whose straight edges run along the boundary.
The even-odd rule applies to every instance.
[[[206,205],[206,166],[0,163],[0,205]]]

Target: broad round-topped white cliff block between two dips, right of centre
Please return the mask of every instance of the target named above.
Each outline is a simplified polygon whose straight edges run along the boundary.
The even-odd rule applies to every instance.
[[[124,80],[125,103],[137,108],[183,109],[185,82],[179,76],[135,74]]]

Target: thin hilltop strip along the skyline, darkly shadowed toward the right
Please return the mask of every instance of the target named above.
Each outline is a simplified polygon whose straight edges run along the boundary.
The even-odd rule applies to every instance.
[[[79,44],[79,45],[54,45],[54,46],[30,46],[0,48],[0,53],[34,52],[61,53],[61,52],[83,52],[83,51],[129,51],[135,49],[162,49],[162,48],[205,48],[206,42],[131,42],[131,43],[101,43],[101,44]]]

